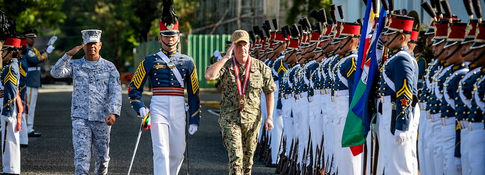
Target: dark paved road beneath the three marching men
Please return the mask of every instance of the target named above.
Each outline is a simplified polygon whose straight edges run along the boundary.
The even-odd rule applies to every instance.
[[[125,92],[125,90],[123,90]],[[150,96],[145,95],[145,104]],[[201,100],[220,100],[217,93],[201,93]],[[42,137],[29,138],[28,148],[22,148],[22,175],[73,175],[71,92],[66,88],[41,89],[37,101],[34,129]],[[222,146],[218,116],[207,112],[214,107],[203,105],[201,126],[189,136],[189,172],[191,175],[227,175],[227,152]],[[111,130],[109,175],[125,175],[135,146],[141,120],[135,117],[126,94],[123,94],[121,117]],[[132,175],[153,174],[150,131],[143,131]],[[274,175],[274,169],[264,167],[255,159],[253,175]],[[91,174],[94,160],[92,160]],[[179,175],[187,174],[184,159]]]

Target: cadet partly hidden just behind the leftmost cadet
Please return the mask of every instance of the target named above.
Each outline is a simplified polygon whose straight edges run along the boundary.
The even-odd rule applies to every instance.
[[[20,98],[22,99],[22,104],[24,105],[24,114],[22,114],[22,129],[20,131],[20,147],[27,147],[28,146],[28,133],[27,133],[27,122],[25,121],[25,112],[27,112],[27,79],[25,75],[27,73],[27,60],[25,59],[25,54],[27,54],[27,39],[21,38],[20,42],[21,52],[19,56],[19,93]]]

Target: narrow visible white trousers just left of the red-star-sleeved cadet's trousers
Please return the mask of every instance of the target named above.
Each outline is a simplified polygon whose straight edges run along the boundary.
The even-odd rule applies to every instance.
[[[376,99],[377,107],[379,108],[379,104],[381,103],[381,99]],[[382,106],[381,106],[382,108]],[[381,109],[382,110],[382,109]],[[377,142],[379,144],[379,155],[377,156],[377,175],[382,175],[384,173],[384,165],[386,164],[386,134],[385,132],[389,131],[384,128],[384,118],[381,113],[377,113],[376,116],[376,136]]]

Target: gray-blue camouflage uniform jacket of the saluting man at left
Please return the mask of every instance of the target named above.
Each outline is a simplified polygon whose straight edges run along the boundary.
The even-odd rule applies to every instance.
[[[84,57],[70,61],[64,54],[50,74],[54,78],[73,78],[71,117],[104,122],[109,114],[117,117],[121,111],[120,73],[113,63],[99,58],[92,66]]]

